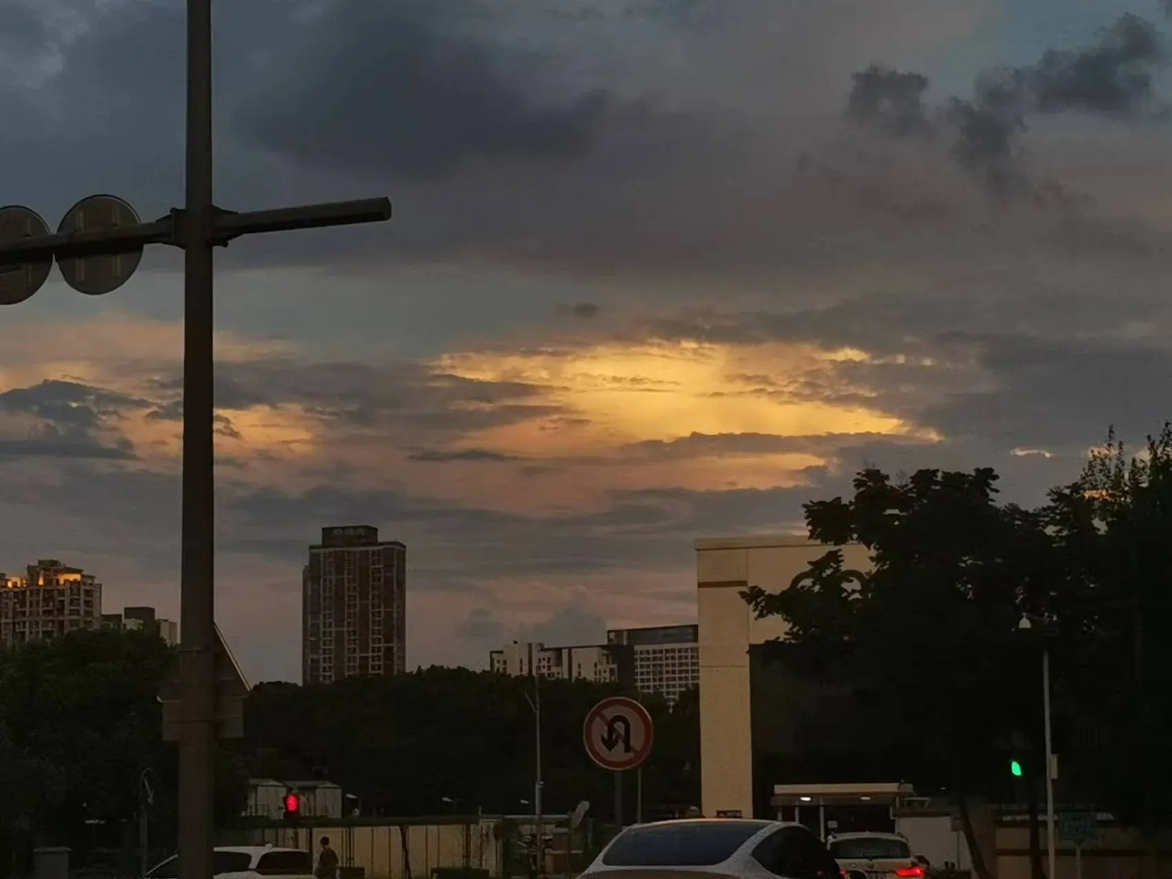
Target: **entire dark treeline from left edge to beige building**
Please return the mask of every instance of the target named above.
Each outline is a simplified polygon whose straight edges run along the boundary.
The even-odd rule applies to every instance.
[[[136,845],[144,775],[151,847],[173,845],[176,749],[162,741],[157,696],[175,665],[173,649],[138,632],[76,632],[0,653],[0,875],[20,872],[34,844],[69,845],[83,859],[94,847]],[[547,813],[587,799],[611,817],[613,776],[587,758],[581,727],[598,700],[616,693],[614,684],[541,682]],[[531,811],[536,723],[526,695],[531,679],[462,668],[258,684],[245,706],[245,740],[219,754],[218,822],[239,823],[248,778],[331,781],[366,815]],[[640,701],[656,723],[645,803],[699,803],[695,693],[675,710],[657,697]]]

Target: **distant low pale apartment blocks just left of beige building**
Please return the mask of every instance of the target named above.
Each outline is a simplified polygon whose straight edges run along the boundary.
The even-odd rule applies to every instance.
[[[513,641],[489,653],[498,674],[614,681],[641,693],[657,693],[669,704],[700,683],[697,627],[654,626],[606,633],[605,645],[547,647]]]

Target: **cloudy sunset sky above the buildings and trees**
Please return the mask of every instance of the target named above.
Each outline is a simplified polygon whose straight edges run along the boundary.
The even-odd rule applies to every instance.
[[[865,465],[1037,503],[1172,417],[1156,0],[216,7],[217,616],[297,680],[325,525],[408,546],[408,663],[695,618],[691,541]],[[177,0],[0,0],[0,203],[183,198]],[[0,570],[175,618],[180,254],[0,322]]]

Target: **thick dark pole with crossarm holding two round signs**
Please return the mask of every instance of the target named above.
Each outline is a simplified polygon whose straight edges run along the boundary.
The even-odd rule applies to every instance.
[[[211,879],[214,844],[214,759],[217,682],[214,673],[214,444],[213,444],[213,255],[212,248],[234,238],[293,229],[373,223],[390,218],[390,202],[302,205],[236,213],[212,203],[212,0],[188,0],[186,206],[154,223],[110,220],[91,229],[83,223],[49,234],[43,220],[23,210],[22,232],[12,224],[0,238],[2,304],[14,305],[35,293],[56,259],[67,282],[87,293],[108,293],[137,266],[148,244],[185,251],[183,342],[183,526],[179,645],[179,804],[178,879]],[[132,213],[129,205],[127,211]],[[9,209],[11,210],[11,209]],[[67,220],[70,219],[67,214]],[[9,214],[11,216],[11,214]],[[76,218],[74,218],[76,219]],[[87,274],[89,257],[114,259],[117,278],[104,286]],[[98,260],[101,261],[101,260]],[[124,263],[130,268],[124,267]],[[67,271],[68,268],[68,271]],[[121,274],[120,274],[121,272]],[[94,273],[89,273],[94,274]]]

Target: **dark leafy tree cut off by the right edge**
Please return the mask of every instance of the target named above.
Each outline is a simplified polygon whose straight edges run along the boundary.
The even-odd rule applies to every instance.
[[[1139,455],[1110,431],[1081,477],[1051,492],[1048,515],[1078,584],[1067,602],[1067,629],[1079,635],[1065,700],[1083,730],[1074,763],[1112,812],[1154,840],[1172,824],[1172,641],[1163,632],[1172,616],[1172,425]]]

